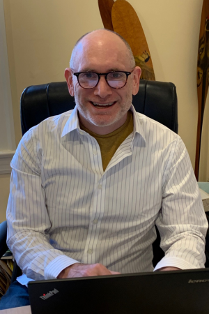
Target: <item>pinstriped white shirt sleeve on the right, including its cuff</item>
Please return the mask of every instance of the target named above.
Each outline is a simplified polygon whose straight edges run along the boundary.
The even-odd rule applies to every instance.
[[[208,222],[189,155],[180,137],[173,143],[164,171],[162,209],[156,225],[165,256],[154,270],[204,268]]]

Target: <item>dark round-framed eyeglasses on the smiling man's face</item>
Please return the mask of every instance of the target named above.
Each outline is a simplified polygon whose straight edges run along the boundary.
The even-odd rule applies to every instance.
[[[132,71],[112,71],[108,73],[77,72],[73,74],[77,77],[77,81],[83,89],[93,89],[96,87],[100,81],[101,75],[105,76],[105,80],[109,87],[113,89],[122,89],[122,87],[125,87],[127,77],[132,73]]]

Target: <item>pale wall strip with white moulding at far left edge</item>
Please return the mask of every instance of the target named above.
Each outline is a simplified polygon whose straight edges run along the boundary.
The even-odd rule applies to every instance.
[[[0,0],[0,223],[6,219],[10,182],[10,160],[15,146],[13,105],[10,90],[3,0]]]

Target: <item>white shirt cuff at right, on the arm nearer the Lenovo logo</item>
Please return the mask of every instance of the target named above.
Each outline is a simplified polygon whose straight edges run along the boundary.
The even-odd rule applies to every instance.
[[[183,260],[183,258],[180,258],[180,257],[163,257],[162,260],[160,260],[160,262],[157,263],[157,265],[155,266],[154,271],[162,267],[178,267],[180,269],[198,268],[198,267],[195,267],[193,264],[190,264],[189,262]]]

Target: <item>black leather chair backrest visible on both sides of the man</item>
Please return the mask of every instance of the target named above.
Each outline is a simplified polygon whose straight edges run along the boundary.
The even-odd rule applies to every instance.
[[[141,80],[139,92],[132,103],[142,114],[178,133],[176,87],[172,83]],[[48,117],[75,107],[75,99],[68,93],[66,82],[30,86],[20,100],[22,135]]]

